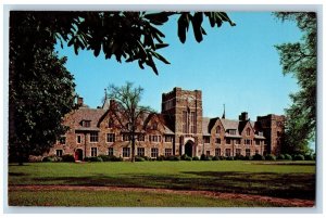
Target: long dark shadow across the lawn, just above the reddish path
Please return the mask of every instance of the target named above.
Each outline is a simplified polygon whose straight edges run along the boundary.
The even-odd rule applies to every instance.
[[[34,180],[40,184],[208,190],[285,198],[315,198],[314,174],[184,171],[180,175],[128,174],[112,177],[97,174],[90,177],[52,177]]]

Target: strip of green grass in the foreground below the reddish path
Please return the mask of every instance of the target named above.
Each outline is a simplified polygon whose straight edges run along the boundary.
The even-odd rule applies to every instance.
[[[12,206],[96,206],[96,207],[277,207],[277,203],[220,200],[128,191],[15,191],[9,194]]]

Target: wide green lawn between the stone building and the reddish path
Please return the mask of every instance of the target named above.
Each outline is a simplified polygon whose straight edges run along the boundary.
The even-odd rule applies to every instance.
[[[285,198],[314,200],[315,163],[284,162],[278,164],[276,162],[223,161],[83,164],[35,163],[26,164],[25,166],[10,165],[9,185],[22,184],[208,190]],[[46,195],[53,195],[50,191],[47,193]],[[42,193],[10,192],[9,198],[14,204],[14,202],[24,202],[25,197],[23,196],[28,195],[34,195],[33,197],[41,200],[43,197],[40,194]],[[99,193],[99,195],[103,193]],[[116,192],[114,194],[120,196],[124,193]],[[20,196],[22,201],[18,201]],[[164,198],[165,195],[163,194],[162,197]],[[204,200],[210,201],[208,198]],[[221,203],[220,205],[223,204]],[[239,204],[244,203],[240,202]],[[249,204],[252,205],[252,203]]]

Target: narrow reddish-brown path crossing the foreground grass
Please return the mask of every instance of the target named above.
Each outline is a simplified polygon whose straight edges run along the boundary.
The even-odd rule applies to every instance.
[[[236,194],[236,193],[222,193],[211,191],[187,191],[187,190],[171,190],[171,189],[149,189],[149,188],[123,188],[123,187],[82,187],[82,185],[10,185],[9,191],[15,190],[82,190],[82,191],[135,191],[135,192],[151,192],[151,193],[174,193],[174,194],[189,194],[189,195],[202,195],[216,198],[237,198],[248,201],[261,201],[271,202],[284,205],[286,207],[313,207],[314,201],[299,200],[299,198],[279,198],[272,196],[261,196],[253,194]]]

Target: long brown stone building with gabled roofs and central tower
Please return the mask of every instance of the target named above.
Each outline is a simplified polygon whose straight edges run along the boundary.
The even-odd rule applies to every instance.
[[[79,108],[64,118],[70,130],[51,149],[58,156],[115,155],[130,158],[129,136],[120,128],[105,100],[102,107],[89,108],[78,98]],[[259,116],[256,121],[242,112],[239,119],[209,118],[202,114],[202,92],[174,88],[162,94],[161,114],[147,114],[137,127],[136,155],[158,156],[250,156],[279,154],[283,144],[284,116]]]

